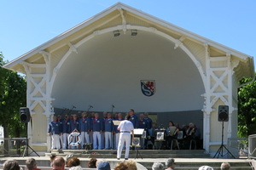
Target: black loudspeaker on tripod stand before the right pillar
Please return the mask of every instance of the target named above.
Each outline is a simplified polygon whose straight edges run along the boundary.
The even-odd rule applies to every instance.
[[[222,122],[221,145],[218,148],[218,151],[216,152],[215,156],[213,156],[213,158],[215,158],[217,155],[223,157],[224,149],[228,151],[230,156],[235,158],[235,156],[231,154],[230,150],[226,148],[223,141],[224,140],[224,122],[229,122],[229,105],[218,105],[218,122]]]

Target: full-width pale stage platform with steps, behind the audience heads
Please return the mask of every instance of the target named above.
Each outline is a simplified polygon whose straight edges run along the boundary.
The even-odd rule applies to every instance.
[[[38,161],[38,167],[49,167],[49,156],[55,154],[57,156],[67,156],[72,154],[73,156],[79,156],[82,167],[87,167],[87,162],[91,157],[97,159],[105,159],[110,162],[112,168],[119,162],[124,161],[124,156],[120,160],[116,159],[116,150],[52,150],[51,153],[45,153],[45,156],[33,156]],[[131,150],[130,160],[136,161],[137,163],[151,169],[155,161],[164,163],[167,157],[173,157],[177,164],[176,170],[197,170],[198,167],[208,165],[218,170],[222,162],[230,162],[232,170],[252,170],[252,164],[254,160],[249,159],[222,159],[222,158],[211,158],[209,154],[205,153],[205,150],[139,150],[143,159],[138,156],[135,159],[137,150]],[[124,152],[124,151],[123,151]],[[3,157],[0,158],[0,163],[7,159],[16,159],[20,165],[25,165],[25,161],[28,157]],[[140,168],[143,170],[143,168]]]

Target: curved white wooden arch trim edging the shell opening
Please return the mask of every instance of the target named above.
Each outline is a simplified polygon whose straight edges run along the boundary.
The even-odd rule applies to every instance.
[[[53,88],[53,84],[55,82],[55,77],[57,76],[57,72],[60,70],[61,65],[63,65],[63,63],[65,62],[65,60],[67,59],[67,57],[72,54],[73,52],[77,52],[75,49],[79,48],[79,46],[81,46],[82,44],[84,44],[84,42],[89,41],[90,39],[92,39],[93,37],[96,37],[98,35],[107,33],[107,32],[111,32],[111,31],[116,31],[116,30],[123,30],[126,31],[128,29],[134,29],[134,30],[139,30],[139,31],[148,31],[148,32],[153,32],[154,34],[159,35],[160,37],[165,37],[166,39],[170,40],[171,42],[174,42],[176,45],[174,48],[182,48],[183,51],[189,55],[189,58],[192,59],[192,61],[194,62],[195,66],[197,67],[198,71],[201,74],[201,79],[202,82],[204,84],[204,88],[206,90],[206,75],[202,69],[201,63],[200,61],[198,61],[194,54],[192,54],[190,52],[190,50],[188,48],[186,48],[183,45],[183,42],[181,42],[180,40],[162,32],[162,31],[158,31],[156,28],[154,27],[145,27],[145,26],[131,26],[131,25],[119,25],[119,26],[113,26],[113,27],[109,27],[109,28],[105,28],[103,30],[100,31],[94,31],[92,34],[90,34],[88,37],[84,37],[84,39],[82,39],[81,41],[77,42],[76,44],[71,44],[68,43],[68,45],[70,46],[69,50],[67,51],[66,54],[64,54],[64,56],[62,57],[61,61],[58,63],[58,65],[55,66],[55,69],[53,71],[53,76],[50,79],[49,82],[49,94],[51,94],[52,92],[52,88]],[[183,37],[182,37],[183,39]]]

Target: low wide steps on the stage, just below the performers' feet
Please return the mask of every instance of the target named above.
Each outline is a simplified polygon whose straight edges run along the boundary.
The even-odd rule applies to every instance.
[[[67,156],[72,154],[73,156],[85,157],[85,158],[116,158],[117,150],[52,150],[51,153],[45,153],[45,156],[55,154],[57,156]],[[138,150],[138,153],[143,158],[209,158],[210,155],[205,150]],[[125,150],[122,151],[124,156]],[[135,158],[137,150],[130,150],[130,157]],[[137,156],[140,158],[141,156]]]

